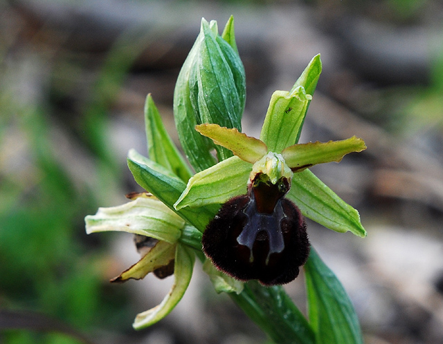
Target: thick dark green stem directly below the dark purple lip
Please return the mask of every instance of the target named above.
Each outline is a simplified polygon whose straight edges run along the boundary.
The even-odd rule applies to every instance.
[[[250,281],[242,293],[229,296],[274,343],[316,343],[314,331],[282,286],[263,287]]]

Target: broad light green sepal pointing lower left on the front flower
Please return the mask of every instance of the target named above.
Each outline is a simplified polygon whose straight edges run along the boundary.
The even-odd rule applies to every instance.
[[[236,156],[219,162],[192,176],[174,207],[179,210],[184,207],[221,204],[236,195],[242,195],[246,193],[251,170],[251,164]]]

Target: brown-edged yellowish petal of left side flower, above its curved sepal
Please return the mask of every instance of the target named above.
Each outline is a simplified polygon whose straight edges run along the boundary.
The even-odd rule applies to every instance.
[[[138,260],[132,267],[123,271],[120,276],[113,278],[111,282],[125,282],[129,278],[140,280],[155,269],[168,265],[175,257],[175,250],[176,245],[159,241],[141,260]]]

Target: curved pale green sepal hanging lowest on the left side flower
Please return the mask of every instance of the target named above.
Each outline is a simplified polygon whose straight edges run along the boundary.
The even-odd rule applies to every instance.
[[[172,285],[160,305],[136,316],[133,324],[134,329],[148,327],[170,314],[188,288],[192,277],[194,261],[195,254],[192,252],[192,249],[183,247],[183,245],[177,245],[174,262],[174,285]]]

